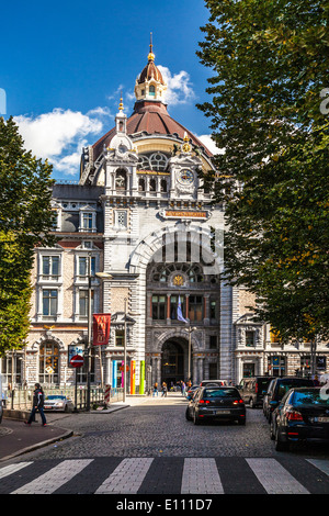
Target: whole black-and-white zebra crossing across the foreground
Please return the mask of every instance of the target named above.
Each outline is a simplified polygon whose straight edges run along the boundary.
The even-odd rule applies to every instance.
[[[329,494],[329,460],[121,458],[22,461],[0,468],[0,494]]]

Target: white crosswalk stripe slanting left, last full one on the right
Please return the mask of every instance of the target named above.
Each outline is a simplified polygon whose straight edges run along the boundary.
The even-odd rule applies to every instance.
[[[309,494],[275,459],[246,459],[269,494]]]

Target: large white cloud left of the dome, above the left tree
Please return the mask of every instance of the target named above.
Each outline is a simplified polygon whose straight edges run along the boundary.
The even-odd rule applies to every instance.
[[[47,158],[54,168],[76,175],[82,146],[88,145],[90,135],[101,133],[103,120],[110,115],[107,108],[95,108],[86,114],[56,108],[38,116],[15,116],[14,121],[26,149],[38,158]]]

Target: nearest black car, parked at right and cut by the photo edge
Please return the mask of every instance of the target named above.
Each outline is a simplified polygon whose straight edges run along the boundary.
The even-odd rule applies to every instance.
[[[326,396],[327,397],[327,396]],[[291,442],[324,440],[329,442],[329,400],[320,388],[291,389],[274,410],[271,438],[276,451],[287,450]]]

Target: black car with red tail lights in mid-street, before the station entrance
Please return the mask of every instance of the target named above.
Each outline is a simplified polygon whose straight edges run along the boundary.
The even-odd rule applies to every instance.
[[[237,420],[245,425],[246,406],[236,388],[200,388],[186,407],[186,419],[193,420],[194,425],[211,419]]]

